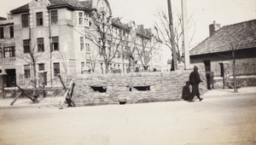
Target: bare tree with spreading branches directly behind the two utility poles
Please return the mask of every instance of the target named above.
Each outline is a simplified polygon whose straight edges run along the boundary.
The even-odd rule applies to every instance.
[[[176,26],[174,27],[174,33],[175,33],[175,45],[176,45],[176,53],[177,53],[177,61],[180,63],[183,58],[183,22],[182,22],[182,14],[176,11],[177,15],[177,22]],[[168,15],[165,11],[159,10],[157,11],[156,17],[158,21],[155,21],[154,29],[158,32],[160,39],[162,41],[162,44],[165,44],[169,49],[172,51],[172,40],[171,40],[171,32],[169,30],[169,20]],[[192,30],[192,34],[189,38],[189,44],[191,44],[191,41],[194,38],[195,35],[195,23],[193,21],[193,14],[189,16],[189,30]],[[173,70],[173,60],[172,60],[172,68]]]

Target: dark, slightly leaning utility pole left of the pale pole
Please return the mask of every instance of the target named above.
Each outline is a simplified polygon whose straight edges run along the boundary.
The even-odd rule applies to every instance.
[[[171,43],[172,43],[173,67],[174,67],[174,71],[176,71],[177,70],[177,53],[176,53],[175,40],[174,40],[171,0],[167,0],[167,3],[168,3],[168,14],[169,14],[169,29],[170,29]]]

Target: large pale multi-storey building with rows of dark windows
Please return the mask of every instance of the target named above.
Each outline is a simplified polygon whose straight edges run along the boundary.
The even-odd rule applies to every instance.
[[[111,13],[109,3],[105,0],[32,0],[11,10],[13,20],[0,21],[0,70],[9,79],[6,80],[6,86],[11,86],[14,81],[25,85],[35,76],[43,78],[43,74],[46,74],[47,84],[54,84],[53,80],[58,74],[89,73],[92,64],[94,73],[104,73],[104,61],[98,46],[90,38],[90,33],[95,31],[90,13],[100,8],[108,8]],[[138,40],[147,38],[152,45],[152,32],[140,27],[147,32],[146,35],[140,35],[135,23],[130,25],[113,21],[113,30],[136,32],[134,37]],[[153,59],[147,65],[152,70],[160,69],[159,51],[159,44],[154,45],[154,51],[148,51]],[[112,73],[127,72],[129,59],[121,55],[122,52],[119,49],[110,63]],[[99,56],[92,59],[93,55]],[[137,65],[142,66],[141,63]]]

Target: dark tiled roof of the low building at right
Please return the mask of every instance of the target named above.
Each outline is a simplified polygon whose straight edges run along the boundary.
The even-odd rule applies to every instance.
[[[234,49],[256,48],[256,20],[223,26],[189,51],[190,55],[212,54]]]

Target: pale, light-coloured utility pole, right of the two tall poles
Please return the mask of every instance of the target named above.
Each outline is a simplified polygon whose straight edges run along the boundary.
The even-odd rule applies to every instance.
[[[188,16],[187,16],[187,1],[182,0],[183,11],[183,46],[184,46],[184,58],[185,58],[185,70],[190,68],[189,59],[189,34],[188,34]]]

